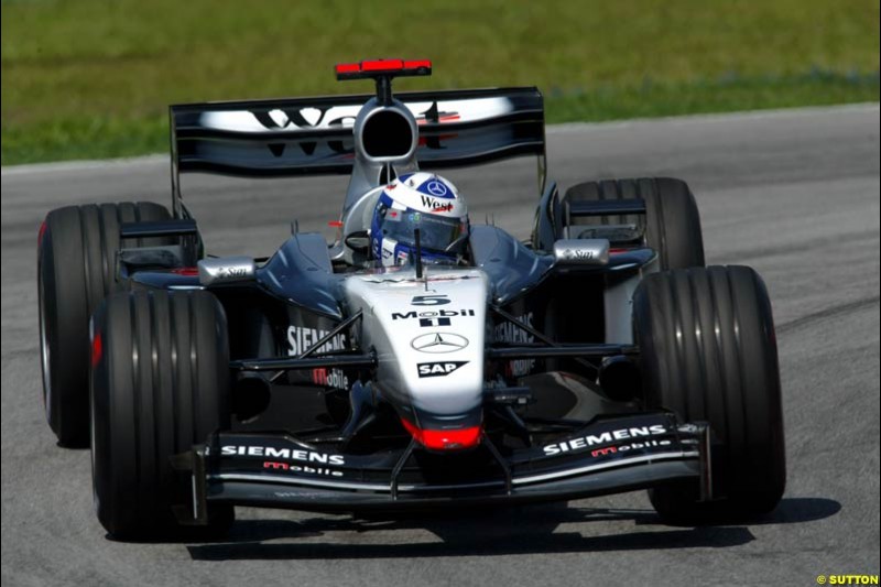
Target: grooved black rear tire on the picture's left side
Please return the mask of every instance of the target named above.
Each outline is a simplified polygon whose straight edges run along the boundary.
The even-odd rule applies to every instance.
[[[43,405],[62,446],[88,446],[89,317],[107,294],[120,289],[115,280],[119,225],[167,218],[165,207],[150,202],[67,206],[48,213],[40,228]],[[137,241],[143,247],[172,243],[167,238]]]

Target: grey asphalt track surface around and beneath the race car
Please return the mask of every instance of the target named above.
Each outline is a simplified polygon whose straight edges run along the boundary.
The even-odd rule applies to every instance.
[[[748,525],[672,528],[643,492],[489,512],[351,518],[239,509],[228,541],[128,544],[93,512],[87,450],[40,400],[36,231],[53,207],[167,202],[164,157],[2,172],[2,583],[11,585],[816,584],[879,573],[878,105],[555,127],[562,186],[687,180],[707,260],[753,265],[775,313],[788,485]],[[526,236],[534,165],[450,172],[472,220]],[[187,177],[209,250],[265,254],[320,229],[346,180]]]

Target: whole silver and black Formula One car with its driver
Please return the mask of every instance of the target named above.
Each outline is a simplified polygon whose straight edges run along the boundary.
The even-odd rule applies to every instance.
[[[771,305],[705,267],[687,185],[545,185],[536,88],[392,95],[425,61],[339,65],[373,96],[171,107],[171,213],[40,229],[46,416],[90,442],[113,535],[315,511],[646,488],[674,523],[772,510],[785,485]],[[539,157],[532,238],[471,224],[442,170]],[[346,173],[338,239],[204,254],[180,174]],[[479,195],[471,195],[479,198]],[[90,395],[89,395],[90,389]]]

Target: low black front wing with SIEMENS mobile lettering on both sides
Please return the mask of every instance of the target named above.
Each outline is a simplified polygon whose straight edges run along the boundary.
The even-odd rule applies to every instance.
[[[570,500],[671,481],[711,487],[709,428],[666,413],[603,417],[530,448],[436,454],[415,441],[405,449],[354,455],[289,434],[221,432],[178,455],[192,478],[182,521],[205,523],[207,504],[313,511],[399,510],[443,503]]]

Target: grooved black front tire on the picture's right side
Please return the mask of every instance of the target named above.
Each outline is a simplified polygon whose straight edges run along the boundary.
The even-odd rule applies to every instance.
[[[786,485],[777,349],[762,279],[747,267],[655,273],[633,301],[645,402],[708,422],[714,501],[698,483],[650,491],[672,523],[749,520]]]

